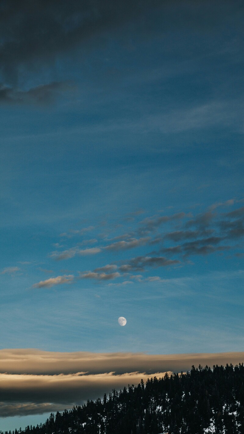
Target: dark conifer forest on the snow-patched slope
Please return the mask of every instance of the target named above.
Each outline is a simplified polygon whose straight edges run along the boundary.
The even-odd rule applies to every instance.
[[[244,434],[244,364],[192,366],[5,434]],[[0,434],[4,434],[0,431]]]

